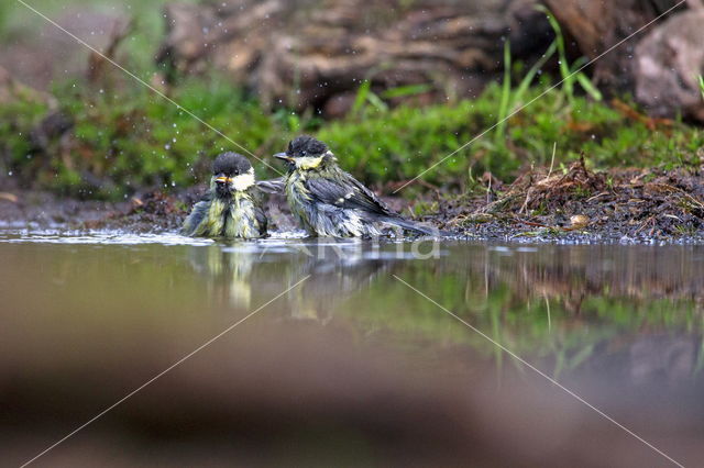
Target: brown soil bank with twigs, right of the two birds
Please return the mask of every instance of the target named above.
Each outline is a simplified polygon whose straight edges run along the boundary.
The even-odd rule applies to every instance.
[[[512,185],[486,179],[484,194],[440,201],[441,227],[512,239],[704,241],[701,170],[594,172],[580,160],[565,172],[534,169]]]

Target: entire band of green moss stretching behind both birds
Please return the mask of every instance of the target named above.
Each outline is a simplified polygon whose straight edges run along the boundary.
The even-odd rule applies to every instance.
[[[547,89],[547,82],[528,89],[522,102]],[[300,132],[326,141],[342,166],[367,183],[410,180],[432,167],[422,178],[450,189],[466,187],[468,174],[490,170],[509,181],[521,167],[548,165],[554,144],[556,168],[566,167],[582,152],[594,168],[695,165],[704,146],[700,129],[673,122],[653,131],[604,103],[579,96],[570,101],[560,90],[546,92],[509,119],[501,137],[490,132],[459,151],[496,123],[498,86],[473,101],[422,109],[366,107],[333,122],[311,112],[263,112],[222,79],[191,78],[173,90],[176,102],[227,137],[142,88],[101,91],[67,83],[55,96],[75,123],[68,151],[53,142],[48,154],[31,154],[28,135],[47,109],[21,101],[0,109],[2,160],[25,183],[92,198],[191,186],[202,180],[217,153],[246,154],[232,141],[283,169],[270,155]],[[37,164],[37,158],[51,164]],[[276,176],[250,158],[261,178]],[[413,196],[414,190],[405,192]]]

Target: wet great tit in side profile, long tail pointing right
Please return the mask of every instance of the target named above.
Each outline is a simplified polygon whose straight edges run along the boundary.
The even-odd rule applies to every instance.
[[[328,145],[301,135],[274,157],[288,167],[283,191],[292,213],[311,236],[376,237],[391,224],[424,235],[433,229],[405,220],[338,165]]]

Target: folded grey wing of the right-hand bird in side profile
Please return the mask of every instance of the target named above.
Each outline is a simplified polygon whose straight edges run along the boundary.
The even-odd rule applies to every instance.
[[[344,209],[363,210],[383,216],[394,213],[370,189],[354,177],[342,172],[339,178],[309,178],[305,182],[310,194],[320,202]]]

